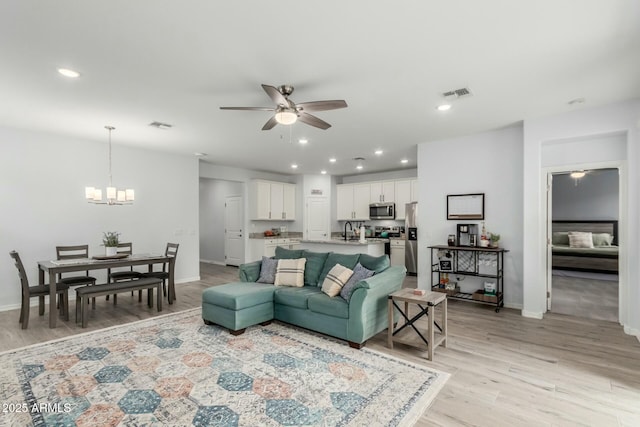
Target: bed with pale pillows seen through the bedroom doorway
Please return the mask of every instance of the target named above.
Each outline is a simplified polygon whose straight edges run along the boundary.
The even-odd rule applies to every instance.
[[[554,269],[618,273],[618,221],[553,221],[551,243]]]

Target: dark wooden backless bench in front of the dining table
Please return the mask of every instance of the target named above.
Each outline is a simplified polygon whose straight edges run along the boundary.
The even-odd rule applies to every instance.
[[[89,312],[87,310],[87,302],[89,298],[114,295],[122,292],[142,291],[146,289],[148,293],[147,304],[149,307],[153,307],[154,288],[156,289],[157,296],[156,306],[158,311],[162,311],[162,279],[155,277],[76,288],[76,323],[78,323],[78,320],[81,318],[83,328],[86,328],[89,324]]]

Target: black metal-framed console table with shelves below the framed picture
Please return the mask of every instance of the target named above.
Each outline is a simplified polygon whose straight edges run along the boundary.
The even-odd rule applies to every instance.
[[[493,305],[496,313],[504,307],[504,248],[485,248],[478,246],[429,246],[431,249],[431,289],[444,292],[449,299],[470,301]],[[449,254],[450,257],[438,257],[438,254]],[[483,289],[473,293],[447,289],[443,283],[447,276],[475,276],[495,280],[496,292],[485,294]],[[434,281],[434,279],[436,279]]]

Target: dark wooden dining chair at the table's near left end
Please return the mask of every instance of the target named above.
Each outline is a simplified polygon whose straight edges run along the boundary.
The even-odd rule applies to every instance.
[[[29,308],[31,298],[38,297],[38,314],[44,315],[44,297],[49,295],[49,285],[29,286],[29,279],[27,273],[24,271],[22,260],[20,255],[16,251],[9,252],[11,258],[13,258],[16,268],[18,269],[18,276],[20,277],[20,285],[22,286],[22,305],[20,306],[20,321],[22,329],[27,329],[29,326]],[[56,283],[56,293],[59,298],[58,306],[60,307],[60,314],[65,320],[69,320],[69,285],[64,283]],[[54,307],[55,301],[49,301],[49,310]]]

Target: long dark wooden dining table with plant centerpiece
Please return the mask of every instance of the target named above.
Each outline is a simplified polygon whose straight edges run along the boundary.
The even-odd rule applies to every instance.
[[[168,290],[169,304],[175,300],[175,257],[161,254],[131,254],[126,256],[95,256],[92,258],[77,258],[52,261],[38,261],[38,283],[44,285],[46,275],[49,275],[49,304],[55,304],[57,275],[77,271],[104,270],[116,267],[130,267],[147,265],[149,271],[156,264],[168,264]],[[94,286],[100,286],[99,284]],[[49,328],[55,328],[57,323],[57,310],[49,310]]]

